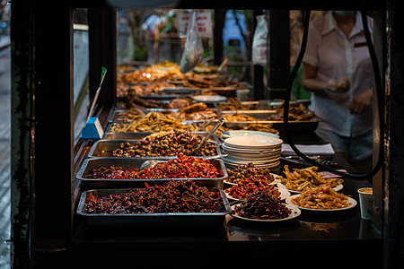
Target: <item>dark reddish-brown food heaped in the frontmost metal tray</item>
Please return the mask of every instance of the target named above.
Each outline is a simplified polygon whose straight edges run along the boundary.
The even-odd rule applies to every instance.
[[[220,213],[223,198],[217,191],[190,180],[170,180],[162,186],[135,189],[117,195],[87,194],[83,213]]]

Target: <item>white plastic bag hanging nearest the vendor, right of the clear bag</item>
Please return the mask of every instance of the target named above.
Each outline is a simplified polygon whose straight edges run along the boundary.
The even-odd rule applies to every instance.
[[[252,64],[267,65],[268,23],[265,15],[257,16],[257,28],[252,39]]]

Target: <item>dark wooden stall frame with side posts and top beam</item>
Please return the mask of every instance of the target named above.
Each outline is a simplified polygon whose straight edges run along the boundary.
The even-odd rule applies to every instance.
[[[385,242],[385,268],[397,268],[402,263],[398,252],[403,246],[402,206],[404,180],[401,176],[404,160],[401,117],[403,114],[404,61],[402,39],[403,16],[400,1],[278,1],[276,3],[253,1],[240,2],[204,1],[204,8],[237,9],[361,9],[383,10],[389,19],[390,30],[386,37],[387,51],[382,50],[382,74],[386,82],[386,161],[382,176],[375,182],[379,189],[379,220]],[[136,2],[127,2],[127,4]],[[239,4],[240,3],[240,4]],[[153,3],[150,3],[153,4]],[[180,8],[200,8],[200,2],[179,2]],[[58,3],[50,12],[48,5],[38,0],[25,3],[12,1],[12,265],[13,268],[60,265],[69,260],[71,247],[72,218],[74,215],[74,166],[75,145],[73,144],[73,56],[72,18],[73,7],[93,6],[89,1]],[[97,7],[108,7],[107,2]],[[107,49],[113,49],[114,30],[110,9],[94,9],[91,27],[94,27],[92,41],[105,42],[95,48],[91,63],[91,89],[99,81],[100,66],[110,66],[105,87],[112,87],[101,96],[96,115],[105,115],[111,108],[115,95],[115,65]],[[384,16],[384,15],[383,15]],[[382,20],[384,20],[382,19]],[[104,21],[105,20],[105,21]],[[102,24],[107,32],[95,23]],[[53,30],[54,26],[57,30]],[[92,31],[92,30],[91,30]],[[383,31],[383,30],[382,30]],[[105,35],[104,35],[105,34]],[[91,33],[92,35],[92,33]],[[383,35],[383,37],[385,37]],[[110,42],[110,43],[109,43]],[[380,41],[375,40],[375,43]],[[94,44],[94,43],[92,43]],[[380,44],[380,43],[379,43]],[[105,45],[105,46],[104,46]],[[382,48],[383,48],[382,44]],[[105,58],[104,58],[105,57]],[[106,62],[101,61],[106,59]],[[389,67],[389,68],[388,68]],[[389,73],[386,70],[390,70]],[[93,94],[93,93],[92,93]],[[111,98],[111,99],[110,99]],[[104,113],[102,112],[104,111]],[[102,117],[103,122],[107,116]],[[377,132],[377,130],[376,130]],[[57,162],[56,165],[54,162]],[[373,179],[374,180],[374,179]],[[377,226],[377,225],[376,225]],[[60,259],[60,260],[59,260]],[[73,262],[75,263],[75,262]]]

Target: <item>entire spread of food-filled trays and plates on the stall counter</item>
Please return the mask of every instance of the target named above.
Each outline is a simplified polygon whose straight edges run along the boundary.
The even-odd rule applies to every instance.
[[[282,103],[262,106],[226,96],[245,84],[229,81],[215,68],[181,74],[178,65],[165,62],[120,70],[119,105],[104,139],[92,145],[77,174],[89,189],[77,213],[88,220],[97,224],[111,217],[119,223],[115,217],[126,215],[148,225],[152,219],[141,215],[164,220],[162,213],[185,214],[192,221],[195,213],[202,219],[219,213],[222,224],[225,215],[270,222],[298,218],[301,210],[355,206],[338,193],[342,178],[323,178],[317,167],[291,172],[281,165]],[[201,101],[198,94],[221,97]],[[221,117],[217,135],[196,152]],[[312,131],[319,122],[303,103],[291,105],[289,120],[299,132]],[[154,164],[143,168],[149,160]]]

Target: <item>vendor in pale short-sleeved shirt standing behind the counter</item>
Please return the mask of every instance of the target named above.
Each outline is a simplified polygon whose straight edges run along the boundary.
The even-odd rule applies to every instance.
[[[373,20],[367,18],[373,32]],[[371,169],[373,67],[360,13],[334,11],[311,22],[303,87],[321,122],[316,133],[358,171]]]

